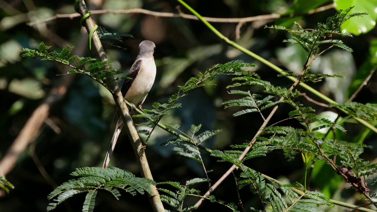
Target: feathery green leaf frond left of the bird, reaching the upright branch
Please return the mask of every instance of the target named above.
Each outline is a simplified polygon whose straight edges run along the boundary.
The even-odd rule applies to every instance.
[[[114,75],[123,74],[123,71],[118,71],[116,69],[111,68],[112,63],[97,61],[95,58],[91,57],[78,57],[77,55],[70,56],[70,53],[73,49],[73,47],[71,46],[65,46],[60,53],[56,51],[48,52],[50,48],[51,46],[46,46],[43,42],[41,42],[36,50],[23,48],[22,56],[41,56],[41,60],[58,61],[72,68],[69,72],[70,74],[86,74],[92,77],[94,80],[98,81],[105,88],[107,88],[106,83],[127,78],[114,77]],[[87,66],[87,68],[84,66]],[[109,88],[107,89],[111,91]]]

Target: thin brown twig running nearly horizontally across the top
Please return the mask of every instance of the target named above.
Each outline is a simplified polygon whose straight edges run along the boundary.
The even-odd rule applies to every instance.
[[[317,9],[313,9],[308,11],[307,14],[313,14],[316,12],[322,12],[327,9],[334,8],[334,5],[326,5]],[[172,13],[172,12],[155,12],[150,11],[146,9],[141,8],[134,8],[134,9],[117,9],[117,10],[111,10],[111,9],[103,9],[103,10],[92,10],[92,14],[105,14],[105,13],[111,13],[111,14],[146,14],[146,15],[152,15],[155,17],[167,17],[167,18],[185,18],[185,19],[191,19],[191,20],[199,20],[198,17],[195,15],[189,15],[184,14],[183,12],[179,11],[178,14]],[[73,14],[56,14],[50,18],[47,18],[45,20],[40,20],[38,22],[31,22],[28,23],[29,26],[33,25],[39,25],[41,23],[47,23],[51,22],[58,18],[75,18],[80,17],[79,14],[73,13]],[[267,15],[257,15],[253,17],[244,17],[244,18],[212,18],[212,17],[203,17],[207,22],[217,22],[217,23],[248,23],[248,22],[254,22],[259,20],[274,20],[277,18],[282,17],[280,14],[267,14]]]

